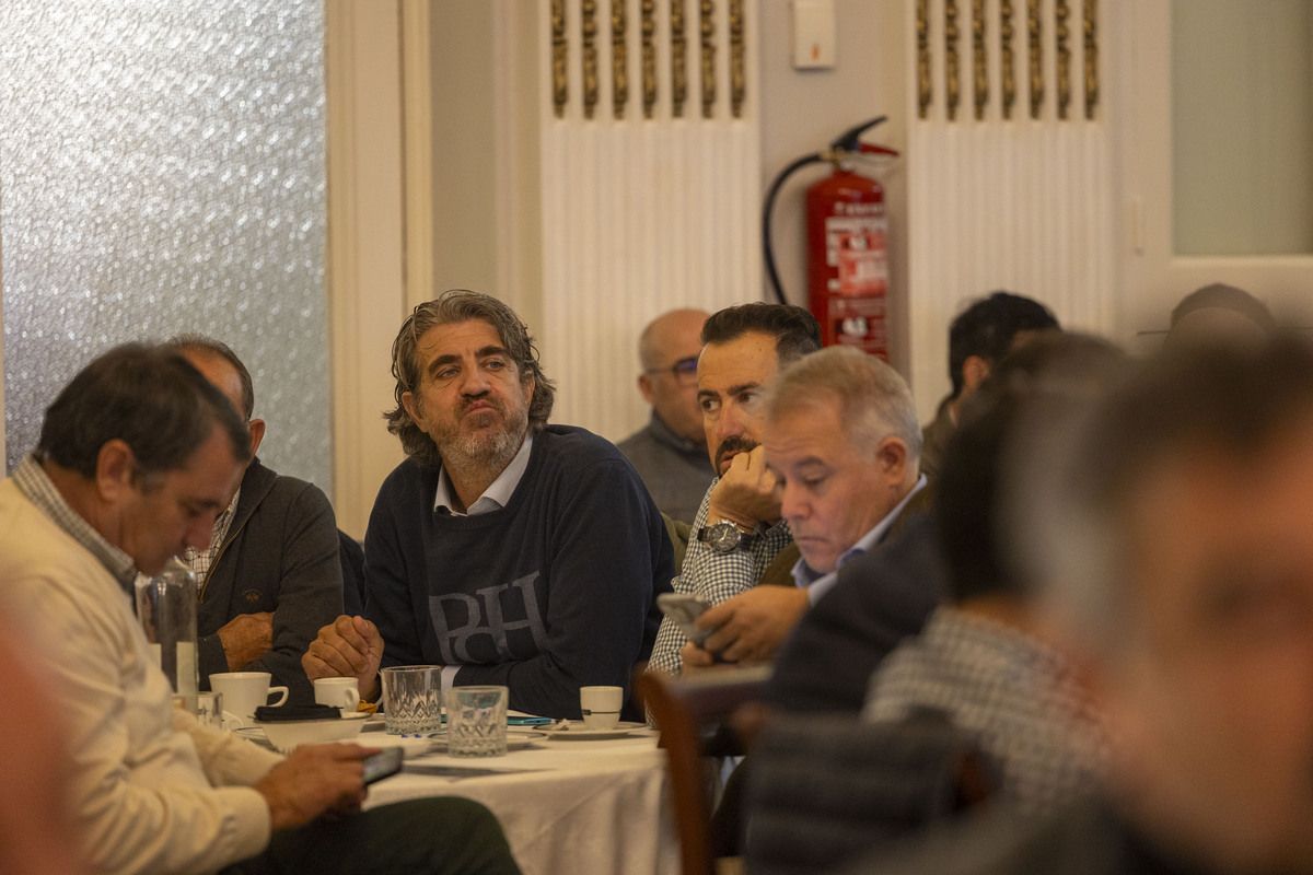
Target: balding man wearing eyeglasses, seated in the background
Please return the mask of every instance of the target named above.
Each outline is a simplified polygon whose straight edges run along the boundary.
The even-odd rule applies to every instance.
[[[651,408],[647,425],[618,443],[643,479],[656,509],[692,522],[716,476],[706,455],[697,407],[697,354],[702,352],[702,310],[672,310],[638,338],[638,391]]]

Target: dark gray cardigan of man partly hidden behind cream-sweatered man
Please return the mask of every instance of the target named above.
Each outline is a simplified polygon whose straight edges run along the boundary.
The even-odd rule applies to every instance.
[[[218,630],[238,614],[273,613],[273,649],[243,670],[269,672],[288,702],[312,704],[301,656],[341,614],[337,523],[319,487],[251,462],[227,538],[201,588],[197,635],[201,689],[227,672]]]

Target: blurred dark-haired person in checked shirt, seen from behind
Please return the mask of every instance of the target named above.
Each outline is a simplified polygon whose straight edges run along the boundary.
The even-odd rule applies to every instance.
[[[863,710],[872,722],[943,711],[997,763],[997,802],[1023,816],[1088,790],[1102,736],[1070,662],[1046,640],[1031,593],[1004,561],[1002,457],[1019,426],[1033,426],[1023,421],[1029,405],[1098,391],[1123,363],[1111,344],[1053,335],[1004,358],[962,405],[932,512],[951,603],[878,664]],[[1027,476],[1036,462],[1019,459],[1011,475]]]

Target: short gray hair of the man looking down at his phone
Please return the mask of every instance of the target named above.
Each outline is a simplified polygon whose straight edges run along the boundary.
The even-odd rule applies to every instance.
[[[776,418],[825,394],[838,396],[839,420],[853,446],[874,454],[893,436],[907,446],[910,459],[920,459],[920,422],[907,382],[851,346],[830,346],[789,365],[765,390],[765,416]]]

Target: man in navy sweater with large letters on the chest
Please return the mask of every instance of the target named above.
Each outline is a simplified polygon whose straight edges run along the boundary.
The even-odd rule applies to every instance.
[[[442,665],[511,707],[578,718],[579,687],[624,686],[651,651],[674,551],[642,480],[583,429],[548,425],[555,388],[504,303],[452,290],[393,344],[389,430],[410,457],[365,535],[368,619],[339,617],[302,660],[316,677]]]

